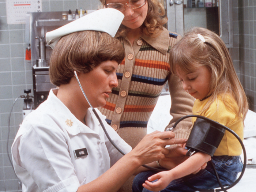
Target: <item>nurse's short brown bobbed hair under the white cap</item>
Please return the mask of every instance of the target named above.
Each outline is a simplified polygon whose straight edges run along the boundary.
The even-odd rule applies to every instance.
[[[103,61],[125,57],[121,43],[107,33],[79,31],[60,38],[50,56],[50,81],[56,86],[68,84],[78,73],[88,73]]]

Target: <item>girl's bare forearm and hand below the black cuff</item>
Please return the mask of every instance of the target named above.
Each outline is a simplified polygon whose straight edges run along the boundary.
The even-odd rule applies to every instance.
[[[202,167],[204,163],[210,161],[210,159],[210,155],[198,152],[175,168],[148,177],[148,181],[145,181],[143,187],[150,191],[161,191],[166,188],[171,181],[196,172],[196,170],[200,169],[200,167]],[[158,181],[151,182],[157,179]]]

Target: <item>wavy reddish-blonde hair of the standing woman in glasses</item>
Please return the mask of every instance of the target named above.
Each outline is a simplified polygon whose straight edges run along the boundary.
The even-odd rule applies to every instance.
[[[102,5],[105,5],[106,0],[100,0]],[[167,17],[165,15],[165,8],[159,0],[147,0],[148,11],[146,19],[144,20],[142,26],[143,34],[149,37],[157,37],[161,34],[163,25],[167,23]],[[128,27],[120,25],[117,34],[124,35],[129,31]]]

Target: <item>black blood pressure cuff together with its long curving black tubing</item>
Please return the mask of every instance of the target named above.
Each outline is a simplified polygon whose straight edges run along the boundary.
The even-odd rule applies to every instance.
[[[195,187],[189,186],[189,187],[195,189],[196,191],[207,191],[207,192],[224,191],[224,192],[227,192],[226,189],[230,189],[231,187],[234,187],[234,185],[236,185],[241,180],[241,178],[245,172],[246,151],[245,151],[245,147],[244,147],[242,140],[233,130],[229,129],[228,127],[226,127],[216,121],[213,121],[207,117],[203,117],[203,116],[199,116],[199,115],[187,115],[187,116],[181,117],[173,124],[173,126],[171,128],[168,128],[166,131],[173,131],[173,129],[177,126],[177,124],[180,123],[180,121],[184,120],[185,118],[189,118],[189,117],[197,117],[197,119],[200,118],[202,120],[198,120],[197,122],[195,122],[195,124],[192,128],[191,134],[189,135],[189,138],[188,138],[188,141],[186,144],[186,147],[189,149],[186,155],[191,156],[191,155],[195,154],[197,151],[202,151],[204,153],[207,153],[207,154],[213,156],[214,152],[216,151],[216,149],[219,146],[219,143],[221,142],[221,139],[224,135],[225,130],[232,133],[237,138],[239,143],[241,144],[242,150],[244,153],[244,165],[243,165],[242,172],[241,172],[240,176],[237,178],[237,180],[233,184],[224,188],[223,185],[221,184],[221,181],[219,180],[218,173],[217,173],[212,161],[210,161],[221,189],[197,189]],[[199,131],[199,129],[200,129],[200,131]]]

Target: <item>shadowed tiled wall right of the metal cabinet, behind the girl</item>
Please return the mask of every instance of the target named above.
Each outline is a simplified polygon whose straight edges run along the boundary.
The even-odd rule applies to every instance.
[[[234,59],[239,60],[241,83],[249,98],[249,107],[256,111],[256,1],[233,1]]]

